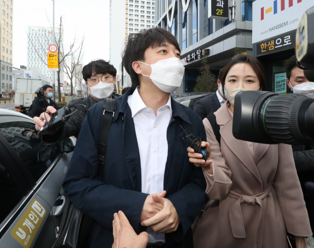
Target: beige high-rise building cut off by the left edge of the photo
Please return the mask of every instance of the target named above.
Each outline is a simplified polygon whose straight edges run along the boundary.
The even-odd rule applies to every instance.
[[[9,97],[12,91],[13,0],[2,0],[1,11],[0,93],[2,97]]]

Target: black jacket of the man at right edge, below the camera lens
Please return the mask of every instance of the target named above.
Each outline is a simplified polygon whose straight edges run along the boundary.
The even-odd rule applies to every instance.
[[[293,145],[292,150],[306,208],[309,212],[311,228],[314,230],[314,192],[305,187],[306,182],[314,182],[314,149],[308,145]]]

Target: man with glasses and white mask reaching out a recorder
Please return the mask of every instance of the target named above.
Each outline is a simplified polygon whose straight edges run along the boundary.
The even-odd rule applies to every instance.
[[[82,74],[86,88],[90,93],[89,96],[87,98],[73,99],[68,103],[67,107],[72,107],[72,112],[75,109],[78,111],[70,117],[66,124],[62,125],[57,130],[41,135],[41,139],[44,143],[54,144],[70,136],[78,138],[87,110],[104,98],[118,97],[117,94],[113,93],[116,85],[117,70],[105,60],[99,59],[85,65]],[[86,108],[83,105],[85,105]],[[45,125],[44,120],[46,120],[46,118],[49,122],[50,114],[54,114],[55,112],[56,109],[49,106],[46,113],[42,113],[40,117],[34,117],[33,121],[36,123],[36,130],[39,131],[40,128]]]

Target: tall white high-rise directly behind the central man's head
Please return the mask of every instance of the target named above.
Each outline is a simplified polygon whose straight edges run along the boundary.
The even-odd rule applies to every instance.
[[[122,7],[124,5],[125,9]],[[155,0],[110,0],[109,59],[117,69],[117,76],[121,77],[123,74],[120,71],[121,52],[128,42],[129,34],[154,26]],[[120,83],[120,88],[121,86]]]

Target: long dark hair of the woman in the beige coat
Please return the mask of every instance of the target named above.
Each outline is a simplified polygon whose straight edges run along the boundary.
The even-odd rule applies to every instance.
[[[265,86],[266,86],[265,74],[264,74],[264,68],[261,62],[250,55],[238,55],[236,57],[233,57],[232,60],[229,62],[229,64],[224,67],[224,71],[222,73],[222,80],[221,80],[223,94],[225,94],[225,81],[226,81],[227,74],[229,73],[230,69],[234,65],[241,64],[241,63],[248,64],[253,68],[254,72],[257,74],[257,77],[260,81],[261,89],[262,90],[265,89]]]

